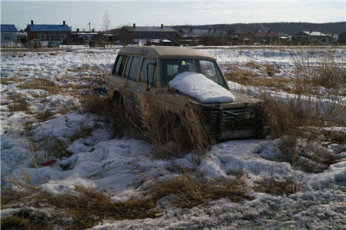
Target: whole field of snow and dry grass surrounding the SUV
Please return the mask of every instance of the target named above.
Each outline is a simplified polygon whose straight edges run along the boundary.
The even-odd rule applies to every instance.
[[[198,48],[264,99],[266,139],[161,158],[90,96],[118,48],[1,52],[1,228],[343,229],[346,48]]]

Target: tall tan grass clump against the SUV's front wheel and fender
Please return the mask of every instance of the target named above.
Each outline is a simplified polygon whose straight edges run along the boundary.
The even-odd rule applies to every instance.
[[[148,97],[140,97],[140,126],[143,133],[154,144],[156,157],[170,158],[172,155],[181,156],[183,149],[165,148],[165,144],[174,142],[181,147],[198,150],[215,142],[210,128],[203,120],[201,111],[196,106],[188,104],[183,111],[173,113],[152,101]]]

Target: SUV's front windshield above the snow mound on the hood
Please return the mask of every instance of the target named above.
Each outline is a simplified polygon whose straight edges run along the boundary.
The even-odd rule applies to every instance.
[[[197,59],[163,59],[162,86],[167,86],[177,74],[183,72],[201,73],[221,86],[226,86],[224,77],[215,61]]]

